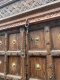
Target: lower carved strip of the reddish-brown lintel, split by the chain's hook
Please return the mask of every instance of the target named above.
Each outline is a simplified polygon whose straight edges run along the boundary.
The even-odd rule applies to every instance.
[[[47,13],[47,14],[46,14]],[[46,12],[44,14],[37,14],[37,15],[33,15],[33,17],[31,17],[29,15],[29,23],[34,23],[34,22],[41,22],[41,21],[45,21],[45,20],[50,20],[50,19],[53,19],[53,18],[58,18],[60,17],[60,8],[57,8],[55,9],[54,11],[51,10],[51,12]],[[27,18],[27,16],[26,16]],[[25,19],[26,19],[25,18]],[[7,28],[11,28],[11,27],[15,27],[15,26],[20,26],[20,25],[24,25],[26,22],[24,21],[25,20],[24,18],[21,20],[21,19],[18,19],[16,21],[12,21],[11,24],[7,23],[7,24],[0,24],[0,30],[3,30],[3,29],[7,29]],[[9,27],[8,27],[9,26]]]

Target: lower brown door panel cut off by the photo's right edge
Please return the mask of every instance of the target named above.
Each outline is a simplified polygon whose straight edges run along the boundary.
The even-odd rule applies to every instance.
[[[54,58],[54,65],[55,65],[56,80],[60,80],[60,57],[55,57]]]

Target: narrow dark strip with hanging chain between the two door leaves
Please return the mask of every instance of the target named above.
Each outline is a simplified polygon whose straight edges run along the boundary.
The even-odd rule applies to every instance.
[[[29,62],[28,62],[28,60],[29,60],[29,56],[28,56],[28,50],[29,50],[29,42],[28,42],[29,21],[28,21],[28,19],[26,20],[25,27],[26,27],[26,51],[25,51],[25,53],[26,53],[26,58],[25,58],[25,61],[26,61],[25,62],[26,63],[26,80],[29,80]]]

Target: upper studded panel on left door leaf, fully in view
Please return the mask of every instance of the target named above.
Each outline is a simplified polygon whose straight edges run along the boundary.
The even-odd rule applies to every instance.
[[[20,34],[9,35],[9,50],[20,50]]]

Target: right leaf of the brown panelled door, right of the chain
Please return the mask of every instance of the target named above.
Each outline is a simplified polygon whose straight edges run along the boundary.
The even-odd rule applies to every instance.
[[[60,25],[30,28],[28,32],[28,79],[60,80]]]

